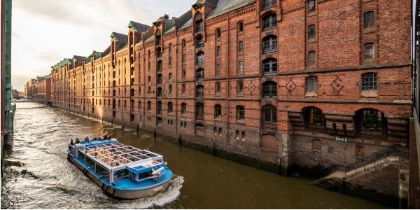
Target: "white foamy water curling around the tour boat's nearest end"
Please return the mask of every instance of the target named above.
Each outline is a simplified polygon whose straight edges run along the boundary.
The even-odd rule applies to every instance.
[[[127,201],[124,204],[120,203],[122,209],[154,209],[154,207],[162,207],[176,200],[181,194],[183,176],[174,176],[169,183],[167,190],[160,192],[153,197],[142,197],[137,200]],[[123,207],[121,207],[123,206]]]

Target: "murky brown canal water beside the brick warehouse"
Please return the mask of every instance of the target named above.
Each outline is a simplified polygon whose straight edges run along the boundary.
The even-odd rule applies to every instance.
[[[155,197],[114,200],[66,160],[70,139],[111,134],[122,144],[160,153],[175,176]],[[27,169],[25,176],[21,171]],[[75,116],[37,103],[18,104],[14,147],[6,151],[1,209],[384,209],[148,133]]]

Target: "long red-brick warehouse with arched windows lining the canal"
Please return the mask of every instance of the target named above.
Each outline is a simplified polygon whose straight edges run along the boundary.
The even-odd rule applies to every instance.
[[[52,106],[282,174],[349,167],[408,142],[409,5],[198,0],[52,66]]]

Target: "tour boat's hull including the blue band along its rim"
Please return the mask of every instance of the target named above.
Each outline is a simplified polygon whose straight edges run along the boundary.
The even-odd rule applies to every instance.
[[[122,188],[122,186],[109,185],[109,183],[99,178],[99,176],[97,176],[97,174],[94,174],[94,172],[92,172],[90,169],[85,168],[80,162],[78,162],[78,160],[76,160],[76,158],[74,158],[73,155],[68,154],[67,159],[69,159],[71,162],[73,162],[74,165],[81,169],[83,171],[83,174],[85,174],[95,183],[97,183],[97,185],[102,188],[104,193],[106,193],[106,195],[110,195],[111,197],[120,200],[134,200],[140,197],[156,195],[157,193],[167,189],[167,187],[169,186],[169,181],[171,181],[172,176],[174,175],[169,169],[165,169],[167,170],[167,174],[165,174],[166,177],[163,181],[154,183],[150,186]]]

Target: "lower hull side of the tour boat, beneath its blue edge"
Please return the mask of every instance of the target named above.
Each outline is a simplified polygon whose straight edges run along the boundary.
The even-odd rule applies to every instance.
[[[76,165],[79,169],[81,169],[83,171],[83,174],[85,174],[87,177],[89,177],[95,183],[97,183],[97,185],[102,188],[104,193],[106,193],[106,195],[110,195],[111,197],[114,197],[116,199],[134,200],[134,199],[138,199],[140,197],[153,196],[153,195],[156,195],[157,193],[159,193],[163,190],[166,190],[167,187],[169,186],[169,181],[167,181],[167,182],[162,183],[158,186],[155,186],[153,188],[148,188],[148,189],[145,189],[145,190],[120,190],[120,189],[114,188],[113,186],[102,182],[100,179],[97,178],[97,176],[94,176],[94,174],[92,174],[92,172],[85,169],[85,167],[83,167],[83,165],[81,165],[78,161],[76,161],[74,159],[73,155],[68,154],[67,159],[69,159],[71,162],[73,162],[74,165]]]

